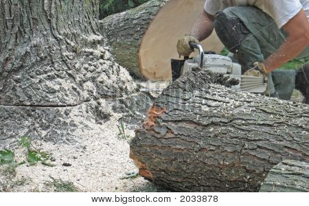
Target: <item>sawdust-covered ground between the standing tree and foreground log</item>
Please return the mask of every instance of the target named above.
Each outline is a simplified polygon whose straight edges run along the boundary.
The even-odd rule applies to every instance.
[[[164,88],[168,82],[143,82],[144,87]],[[158,95],[158,92],[151,92]],[[137,175],[129,158],[129,141],[134,129],[124,125],[119,133],[119,118],[113,113],[108,122],[89,132],[80,130],[82,141],[75,144],[52,144],[33,140],[35,148],[52,155],[53,167],[25,163],[14,170],[0,165],[0,192],[157,192],[160,189]],[[25,160],[27,149],[11,148],[16,162]],[[130,177],[131,176],[131,177]]]

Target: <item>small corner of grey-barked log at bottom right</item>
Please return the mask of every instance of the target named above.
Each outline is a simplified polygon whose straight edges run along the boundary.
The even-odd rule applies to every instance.
[[[286,160],[275,165],[260,192],[309,192],[309,163]]]

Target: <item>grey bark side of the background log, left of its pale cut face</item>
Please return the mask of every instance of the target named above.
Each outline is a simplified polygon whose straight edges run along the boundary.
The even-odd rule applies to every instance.
[[[168,0],[151,0],[126,12],[107,16],[101,21],[101,27],[113,48],[112,54],[119,65],[129,72],[143,78],[139,71],[139,45],[152,19]]]

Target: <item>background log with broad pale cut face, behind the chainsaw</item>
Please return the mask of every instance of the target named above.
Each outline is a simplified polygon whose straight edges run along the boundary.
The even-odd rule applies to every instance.
[[[176,43],[189,34],[204,0],[152,0],[101,21],[117,63],[137,78],[172,78],[170,60],[179,59]],[[203,46],[220,52],[222,43],[212,34]]]

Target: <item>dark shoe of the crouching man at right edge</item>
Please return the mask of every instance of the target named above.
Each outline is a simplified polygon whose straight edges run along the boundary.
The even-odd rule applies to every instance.
[[[297,70],[295,79],[295,89],[304,95],[304,104],[309,104],[309,64]]]

